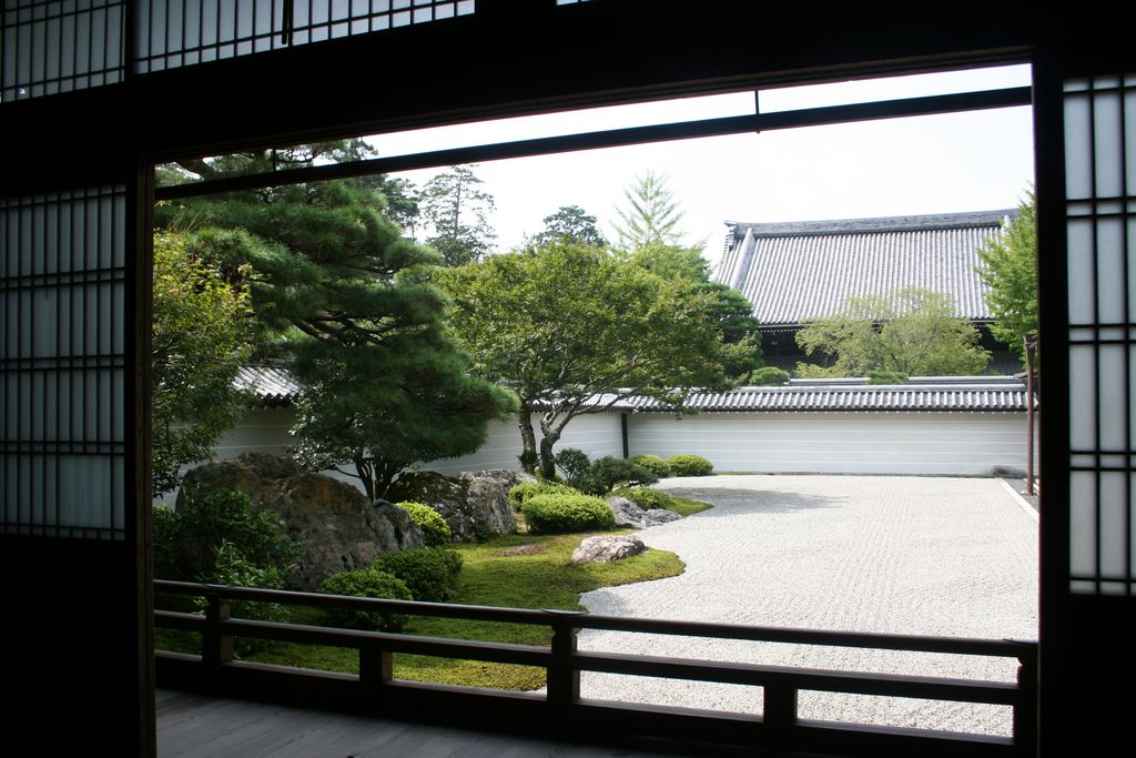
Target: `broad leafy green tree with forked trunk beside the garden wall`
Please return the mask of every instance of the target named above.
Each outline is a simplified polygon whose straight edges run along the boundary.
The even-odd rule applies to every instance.
[[[707,318],[709,297],[603,248],[554,242],[449,270],[444,282],[474,369],[520,398],[521,464],[546,478],[576,416],[629,395],[677,408],[694,389],[728,386],[733,356]]]

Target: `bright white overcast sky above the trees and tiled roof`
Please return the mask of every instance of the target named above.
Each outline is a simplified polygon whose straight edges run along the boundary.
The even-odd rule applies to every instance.
[[[1029,84],[1028,66],[762,91],[771,113]],[[753,113],[753,93],[513,118],[374,138],[381,155]],[[399,174],[421,185],[438,169]],[[560,206],[598,216],[612,236],[615,208],[635,177],[668,177],[686,242],[716,261],[726,219],[788,222],[992,210],[1018,205],[1033,182],[1028,107],[742,134],[483,163],[502,250],[543,228]]]

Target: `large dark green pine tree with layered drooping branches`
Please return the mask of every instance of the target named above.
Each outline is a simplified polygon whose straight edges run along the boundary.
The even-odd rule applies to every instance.
[[[334,151],[296,148],[298,160]],[[267,169],[270,152],[186,168]],[[160,209],[202,259],[249,291],[257,355],[303,386],[293,432],[312,467],[352,466],[374,497],[402,466],[476,449],[508,391],[468,376],[448,336],[437,253],[399,234],[374,178],[231,193]],[[428,439],[427,439],[428,438]]]

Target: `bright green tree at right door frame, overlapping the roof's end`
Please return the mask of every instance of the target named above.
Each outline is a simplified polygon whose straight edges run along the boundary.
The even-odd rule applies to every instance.
[[[1037,232],[1030,191],[1019,215],[978,248],[978,276],[989,288],[986,302],[994,313],[991,334],[1018,350],[1025,360],[1022,336],[1037,333]]]

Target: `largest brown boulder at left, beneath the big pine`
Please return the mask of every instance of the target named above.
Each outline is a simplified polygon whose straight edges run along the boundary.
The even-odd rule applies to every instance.
[[[242,452],[206,464],[182,478],[177,502],[201,488],[240,490],[279,514],[306,555],[289,582],[314,590],[332,574],[366,568],[381,552],[424,544],[421,528],[389,503],[373,507],[345,482],[312,474],[291,458]]]

